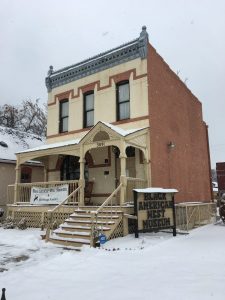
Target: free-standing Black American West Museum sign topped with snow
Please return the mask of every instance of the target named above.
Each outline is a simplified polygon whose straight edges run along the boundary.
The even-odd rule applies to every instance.
[[[157,232],[173,229],[176,235],[175,189],[147,188],[135,189],[134,213],[137,216],[135,237],[139,232]]]

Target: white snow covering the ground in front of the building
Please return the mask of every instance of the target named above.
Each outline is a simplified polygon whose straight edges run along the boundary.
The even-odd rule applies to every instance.
[[[129,235],[76,252],[46,244],[37,229],[0,228],[0,268],[8,269],[0,272],[0,288],[7,300],[220,300],[224,233],[220,224],[177,237]]]

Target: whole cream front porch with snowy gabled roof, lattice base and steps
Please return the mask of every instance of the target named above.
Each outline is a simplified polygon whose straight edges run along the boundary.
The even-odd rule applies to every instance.
[[[43,164],[42,182],[21,183],[21,165],[30,160]],[[133,189],[150,185],[149,162],[148,128],[122,130],[98,122],[80,139],[17,154],[16,183],[8,187],[8,216],[16,222],[25,218],[29,227],[47,228],[47,239],[50,231],[65,220],[76,219],[75,227],[68,224],[66,227],[79,228],[80,218],[85,219],[88,232],[83,234],[91,236],[90,243],[99,224],[101,230],[107,228],[108,238],[118,228],[126,235],[129,232],[127,216],[132,218],[133,214]],[[49,191],[62,186],[66,186],[68,192],[57,204],[31,201],[34,188]]]

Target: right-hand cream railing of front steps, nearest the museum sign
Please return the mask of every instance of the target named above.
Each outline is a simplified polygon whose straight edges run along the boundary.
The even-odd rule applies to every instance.
[[[120,192],[123,184],[120,183],[120,185],[112,192],[112,194],[102,203],[102,205],[96,210],[91,212],[91,246],[94,246],[95,238],[98,237],[99,232],[103,232],[102,227],[98,226],[98,215],[100,212],[103,211],[103,208],[109,208],[109,213],[111,215],[111,220],[113,219],[113,210],[117,210],[118,206],[113,207],[113,198],[116,197],[116,195]],[[120,205],[119,205],[120,208]]]

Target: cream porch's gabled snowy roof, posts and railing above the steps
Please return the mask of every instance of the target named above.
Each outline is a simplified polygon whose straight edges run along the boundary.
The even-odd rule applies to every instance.
[[[8,203],[28,204],[31,188],[35,186],[48,188],[66,184],[68,195],[80,187],[76,197],[73,195],[68,201],[83,206],[88,196],[90,204],[98,206],[122,184],[113,201],[123,205],[132,201],[132,187],[150,186],[149,153],[148,128],[122,130],[98,122],[82,138],[18,153],[16,182],[9,186]],[[43,164],[43,182],[21,183],[21,165],[30,160]]]

